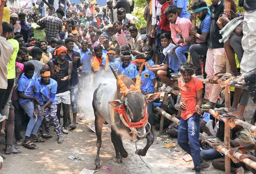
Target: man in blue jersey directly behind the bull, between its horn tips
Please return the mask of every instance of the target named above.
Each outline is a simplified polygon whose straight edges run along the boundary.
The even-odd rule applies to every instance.
[[[124,74],[129,77],[129,74],[134,74],[134,64],[132,61],[131,53],[128,51],[124,51],[123,54],[120,56],[122,64],[118,68],[119,74]]]

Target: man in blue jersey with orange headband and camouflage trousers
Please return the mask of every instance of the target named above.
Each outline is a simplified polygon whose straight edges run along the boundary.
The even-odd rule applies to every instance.
[[[35,97],[39,100],[40,104],[35,104],[36,108],[41,108],[41,116],[44,116],[46,121],[46,132],[48,137],[51,137],[50,126],[53,123],[55,127],[56,134],[58,136],[58,144],[64,143],[61,135],[60,122],[56,115],[57,113],[57,82],[50,78],[50,69],[42,68],[40,71],[41,78],[35,81]],[[38,111],[38,110],[37,110]]]

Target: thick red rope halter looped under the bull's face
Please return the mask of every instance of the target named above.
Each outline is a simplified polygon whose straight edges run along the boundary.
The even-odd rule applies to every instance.
[[[115,111],[118,112],[119,114],[123,114],[123,117],[125,119],[125,121],[128,123],[128,126],[131,128],[139,128],[139,127],[143,127],[147,121],[148,121],[148,113],[147,113],[147,106],[145,105],[145,110],[144,110],[144,118],[142,118],[139,122],[133,123],[130,122],[128,119],[128,116],[126,114],[124,105],[121,105],[118,108],[115,108]]]

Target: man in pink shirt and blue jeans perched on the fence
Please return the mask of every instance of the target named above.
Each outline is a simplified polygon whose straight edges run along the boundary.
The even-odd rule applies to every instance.
[[[175,50],[181,64],[186,64],[187,58],[184,54],[189,52],[190,43],[195,41],[195,38],[189,37],[191,22],[189,19],[180,18],[178,16],[177,7],[175,5],[170,5],[166,8],[164,14],[170,22],[172,40],[176,45],[172,51]]]

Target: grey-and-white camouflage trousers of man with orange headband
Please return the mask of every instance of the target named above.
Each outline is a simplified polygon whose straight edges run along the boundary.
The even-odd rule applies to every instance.
[[[61,127],[57,113],[57,103],[51,103],[44,109],[44,120],[46,122],[46,132],[50,132],[50,126],[53,123],[57,136],[61,136]]]

